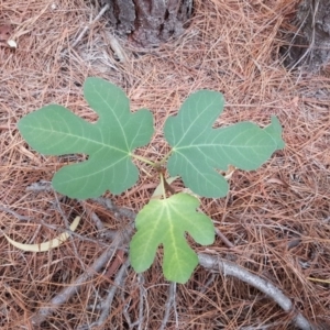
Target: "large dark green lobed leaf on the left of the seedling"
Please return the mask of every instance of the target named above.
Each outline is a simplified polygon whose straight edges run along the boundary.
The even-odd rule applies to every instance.
[[[45,155],[88,155],[88,161],[64,166],[55,174],[53,186],[57,191],[81,199],[98,197],[107,189],[120,194],[139,178],[131,153],[150,142],[152,113],[146,109],[130,112],[123,90],[100,78],[87,78],[84,96],[99,116],[96,123],[51,105],[22,118],[19,130]]]

